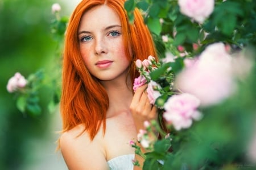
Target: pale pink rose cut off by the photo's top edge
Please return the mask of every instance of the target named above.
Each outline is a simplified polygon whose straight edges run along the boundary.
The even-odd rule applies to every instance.
[[[180,12],[203,23],[214,9],[214,0],[179,0]]]

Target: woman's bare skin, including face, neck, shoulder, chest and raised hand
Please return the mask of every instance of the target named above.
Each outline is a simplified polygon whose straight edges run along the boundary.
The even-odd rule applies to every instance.
[[[93,139],[82,123],[65,130],[60,150],[69,169],[109,169],[108,160],[134,154],[129,142],[137,138],[144,121],[156,118],[156,108],[144,92],[146,86],[135,93],[131,90],[129,67],[133,61],[125,52],[121,20],[113,9],[100,5],[86,11],[77,36],[85,67],[108,94],[106,128],[101,123]],[[140,157],[135,159],[143,163]]]

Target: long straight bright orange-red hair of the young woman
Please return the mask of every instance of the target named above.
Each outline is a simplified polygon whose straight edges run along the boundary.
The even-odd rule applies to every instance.
[[[63,58],[63,85],[61,92],[60,111],[63,119],[63,132],[83,124],[90,139],[97,134],[101,123],[106,129],[106,111],[109,98],[100,82],[91,76],[82,60],[78,28],[80,19],[86,11],[98,5],[108,5],[118,15],[122,24],[123,43],[126,56],[131,61],[131,82],[139,76],[134,61],[147,59],[149,55],[156,57],[155,46],[148,28],[138,9],[134,11],[134,23],[129,23],[125,0],[84,0],[73,11],[65,36]]]

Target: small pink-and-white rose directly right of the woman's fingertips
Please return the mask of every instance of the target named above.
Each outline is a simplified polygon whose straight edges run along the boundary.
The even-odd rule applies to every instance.
[[[161,96],[160,92],[155,90],[156,88],[160,88],[160,85],[151,80],[147,86],[147,97],[152,105],[154,105],[155,100]]]

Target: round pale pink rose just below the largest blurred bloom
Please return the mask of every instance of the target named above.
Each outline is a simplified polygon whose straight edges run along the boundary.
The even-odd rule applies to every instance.
[[[201,118],[200,112],[197,111],[199,105],[200,100],[191,94],[174,95],[164,104],[163,117],[176,130],[188,128],[192,125],[192,119],[198,120]]]

